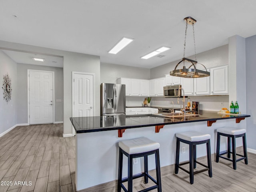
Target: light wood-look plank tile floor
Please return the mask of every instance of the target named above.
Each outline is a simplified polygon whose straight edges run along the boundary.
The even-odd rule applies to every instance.
[[[18,126],[2,136],[0,192],[74,192],[75,137],[63,138],[62,133],[63,124],[46,124]],[[248,153],[248,161],[248,165],[238,162],[237,170],[232,169],[232,162],[213,162],[213,177],[209,178],[208,172],[196,174],[193,185],[189,175],[181,170],[177,175],[165,174],[162,192],[256,192],[256,154]],[[134,192],[152,184],[137,183],[134,182]],[[83,192],[116,190],[116,182],[110,182]]]

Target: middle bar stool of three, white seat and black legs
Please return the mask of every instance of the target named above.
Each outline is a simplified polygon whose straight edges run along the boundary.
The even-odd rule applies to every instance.
[[[198,174],[204,171],[208,171],[209,177],[212,177],[212,160],[211,160],[211,148],[209,134],[200,133],[197,131],[188,131],[176,133],[177,144],[176,144],[176,163],[175,163],[175,174],[178,174],[179,168],[189,174],[190,184],[194,183],[194,174]],[[180,156],[180,142],[189,144],[189,161],[179,164]],[[196,145],[206,143],[207,148],[207,162],[208,166],[196,161]],[[189,171],[182,168],[182,165],[189,163]],[[205,169],[194,172],[196,163],[205,167]]]

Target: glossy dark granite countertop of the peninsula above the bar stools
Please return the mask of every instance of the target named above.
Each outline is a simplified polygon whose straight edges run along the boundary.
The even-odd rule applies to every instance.
[[[232,118],[246,118],[250,115],[222,115],[217,111],[202,111],[200,116],[186,116],[186,118],[166,118],[158,114],[141,115],[115,115],[115,116],[93,116],[93,117],[73,117],[70,118],[76,133],[109,131],[129,128],[140,128],[148,126],[158,126],[166,124],[178,124],[200,121],[214,121]]]

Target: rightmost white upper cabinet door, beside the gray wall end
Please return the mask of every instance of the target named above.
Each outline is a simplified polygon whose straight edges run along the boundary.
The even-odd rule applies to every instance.
[[[228,66],[210,69],[211,94],[228,94]]]

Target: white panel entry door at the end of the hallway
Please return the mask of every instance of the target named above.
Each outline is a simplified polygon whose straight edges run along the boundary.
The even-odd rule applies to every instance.
[[[53,72],[29,72],[30,124],[53,123]]]

